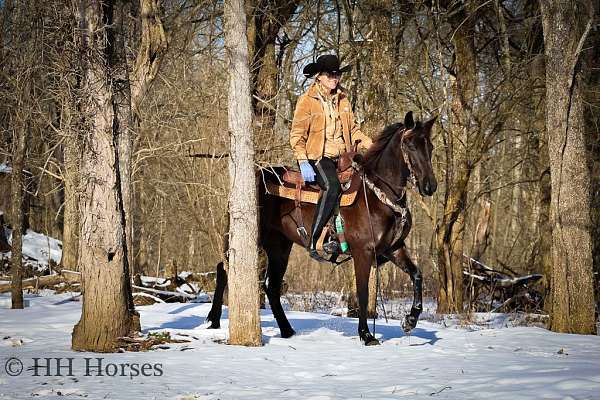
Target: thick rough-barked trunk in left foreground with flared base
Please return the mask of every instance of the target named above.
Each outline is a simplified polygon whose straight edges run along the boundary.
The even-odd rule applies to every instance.
[[[79,267],[83,307],[74,350],[110,352],[138,329],[127,264],[118,143],[130,126],[129,82],[120,1],[81,0],[79,26],[86,54],[82,110],[89,132],[81,164]]]

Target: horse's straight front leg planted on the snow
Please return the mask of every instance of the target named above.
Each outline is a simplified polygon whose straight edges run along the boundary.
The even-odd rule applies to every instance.
[[[369,303],[369,275],[373,254],[370,252],[354,255],[354,272],[356,276],[356,296],[358,297],[358,335],[365,345],[379,344],[379,340],[369,331],[367,325],[367,306]]]

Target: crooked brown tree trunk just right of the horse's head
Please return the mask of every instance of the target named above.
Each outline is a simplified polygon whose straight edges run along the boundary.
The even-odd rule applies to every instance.
[[[453,83],[451,129],[446,149],[446,192],[444,214],[437,228],[439,313],[463,310],[463,242],[467,190],[472,163],[469,152],[475,133],[472,118],[476,90],[475,16],[461,6],[450,18],[453,27],[456,79]]]

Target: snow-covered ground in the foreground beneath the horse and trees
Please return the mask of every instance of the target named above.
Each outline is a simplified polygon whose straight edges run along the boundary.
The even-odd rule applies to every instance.
[[[266,310],[264,346],[244,348],[222,344],[227,320],[223,329],[205,328],[210,304],[171,303],[139,307],[143,329],[189,343],[144,353],[76,353],[70,335],[81,304],[67,294],[28,298],[25,310],[0,309],[0,399],[600,398],[598,336],[442,320],[421,321],[407,337],[399,321],[378,320],[382,345],[364,347],[355,319],[290,311],[298,335],[282,339]],[[34,358],[38,365],[51,358],[50,369],[34,376]],[[62,358],[63,376],[56,376],[54,358]],[[21,364],[20,375],[8,374]]]

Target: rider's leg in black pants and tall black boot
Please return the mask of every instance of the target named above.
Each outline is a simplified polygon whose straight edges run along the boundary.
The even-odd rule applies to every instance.
[[[317,184],[321,188],[321,196],[317,202],[317,209],[313,219],[308,252],[312,258],[323,261],[323,258],[317,253],[317,241],[323,232],[325,224],[331,218],[333,210],[335,210],[342,187],[337,176],[335,161],[323,157],[318,162],[311,160],[310,163],[315,170]]]

